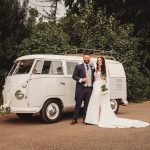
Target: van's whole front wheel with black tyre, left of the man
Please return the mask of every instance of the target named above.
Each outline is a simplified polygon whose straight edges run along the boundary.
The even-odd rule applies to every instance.
[[[57,122],[62,114],[62,105],[55,99],[48,100],[45,102],[40,113],[41,118],[45,123]]]

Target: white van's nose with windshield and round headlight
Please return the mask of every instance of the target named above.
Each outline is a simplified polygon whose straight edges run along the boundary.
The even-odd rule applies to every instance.
[[[9,72],[3,90],[4,102],[12,107],[11,111],[23,111],[28,107],[27,86],[34,59],[16,61]]]

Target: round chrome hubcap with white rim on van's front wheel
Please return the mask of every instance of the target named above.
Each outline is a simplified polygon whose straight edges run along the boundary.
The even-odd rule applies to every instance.
[[[49,119],[56,119],[59,115],[59,107],[55,103],[51,103],[47,106],[46,115]]]

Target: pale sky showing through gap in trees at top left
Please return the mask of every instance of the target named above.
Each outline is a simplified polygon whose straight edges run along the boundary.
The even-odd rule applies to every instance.
[[[40,14],[44,14],[43,9],[49,12],[49,3],[43,2],[44,0],[29,0],[29,5],[33,8],[36,8]],[[58,4],[58,12],[57,17],[60,18],[65,15],[65,7],[63,3]]]

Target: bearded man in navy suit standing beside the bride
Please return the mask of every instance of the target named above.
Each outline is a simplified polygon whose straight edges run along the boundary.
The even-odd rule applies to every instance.
[[[88,103],[91,97],[93,82],[94,82],[94,72],[95,69],[91,66],[90,55],[84,54],[83,61],[84,63],[76,65],[72,78],[76,80],[76,91],[75,91],[75,110],[73,113],[73,119],[71,124],[76,124],[79,117],[79,112],[81,109],[81,104],[84,101],[84,113],[83,113],[83,122],[86,116],[86,111]]]

